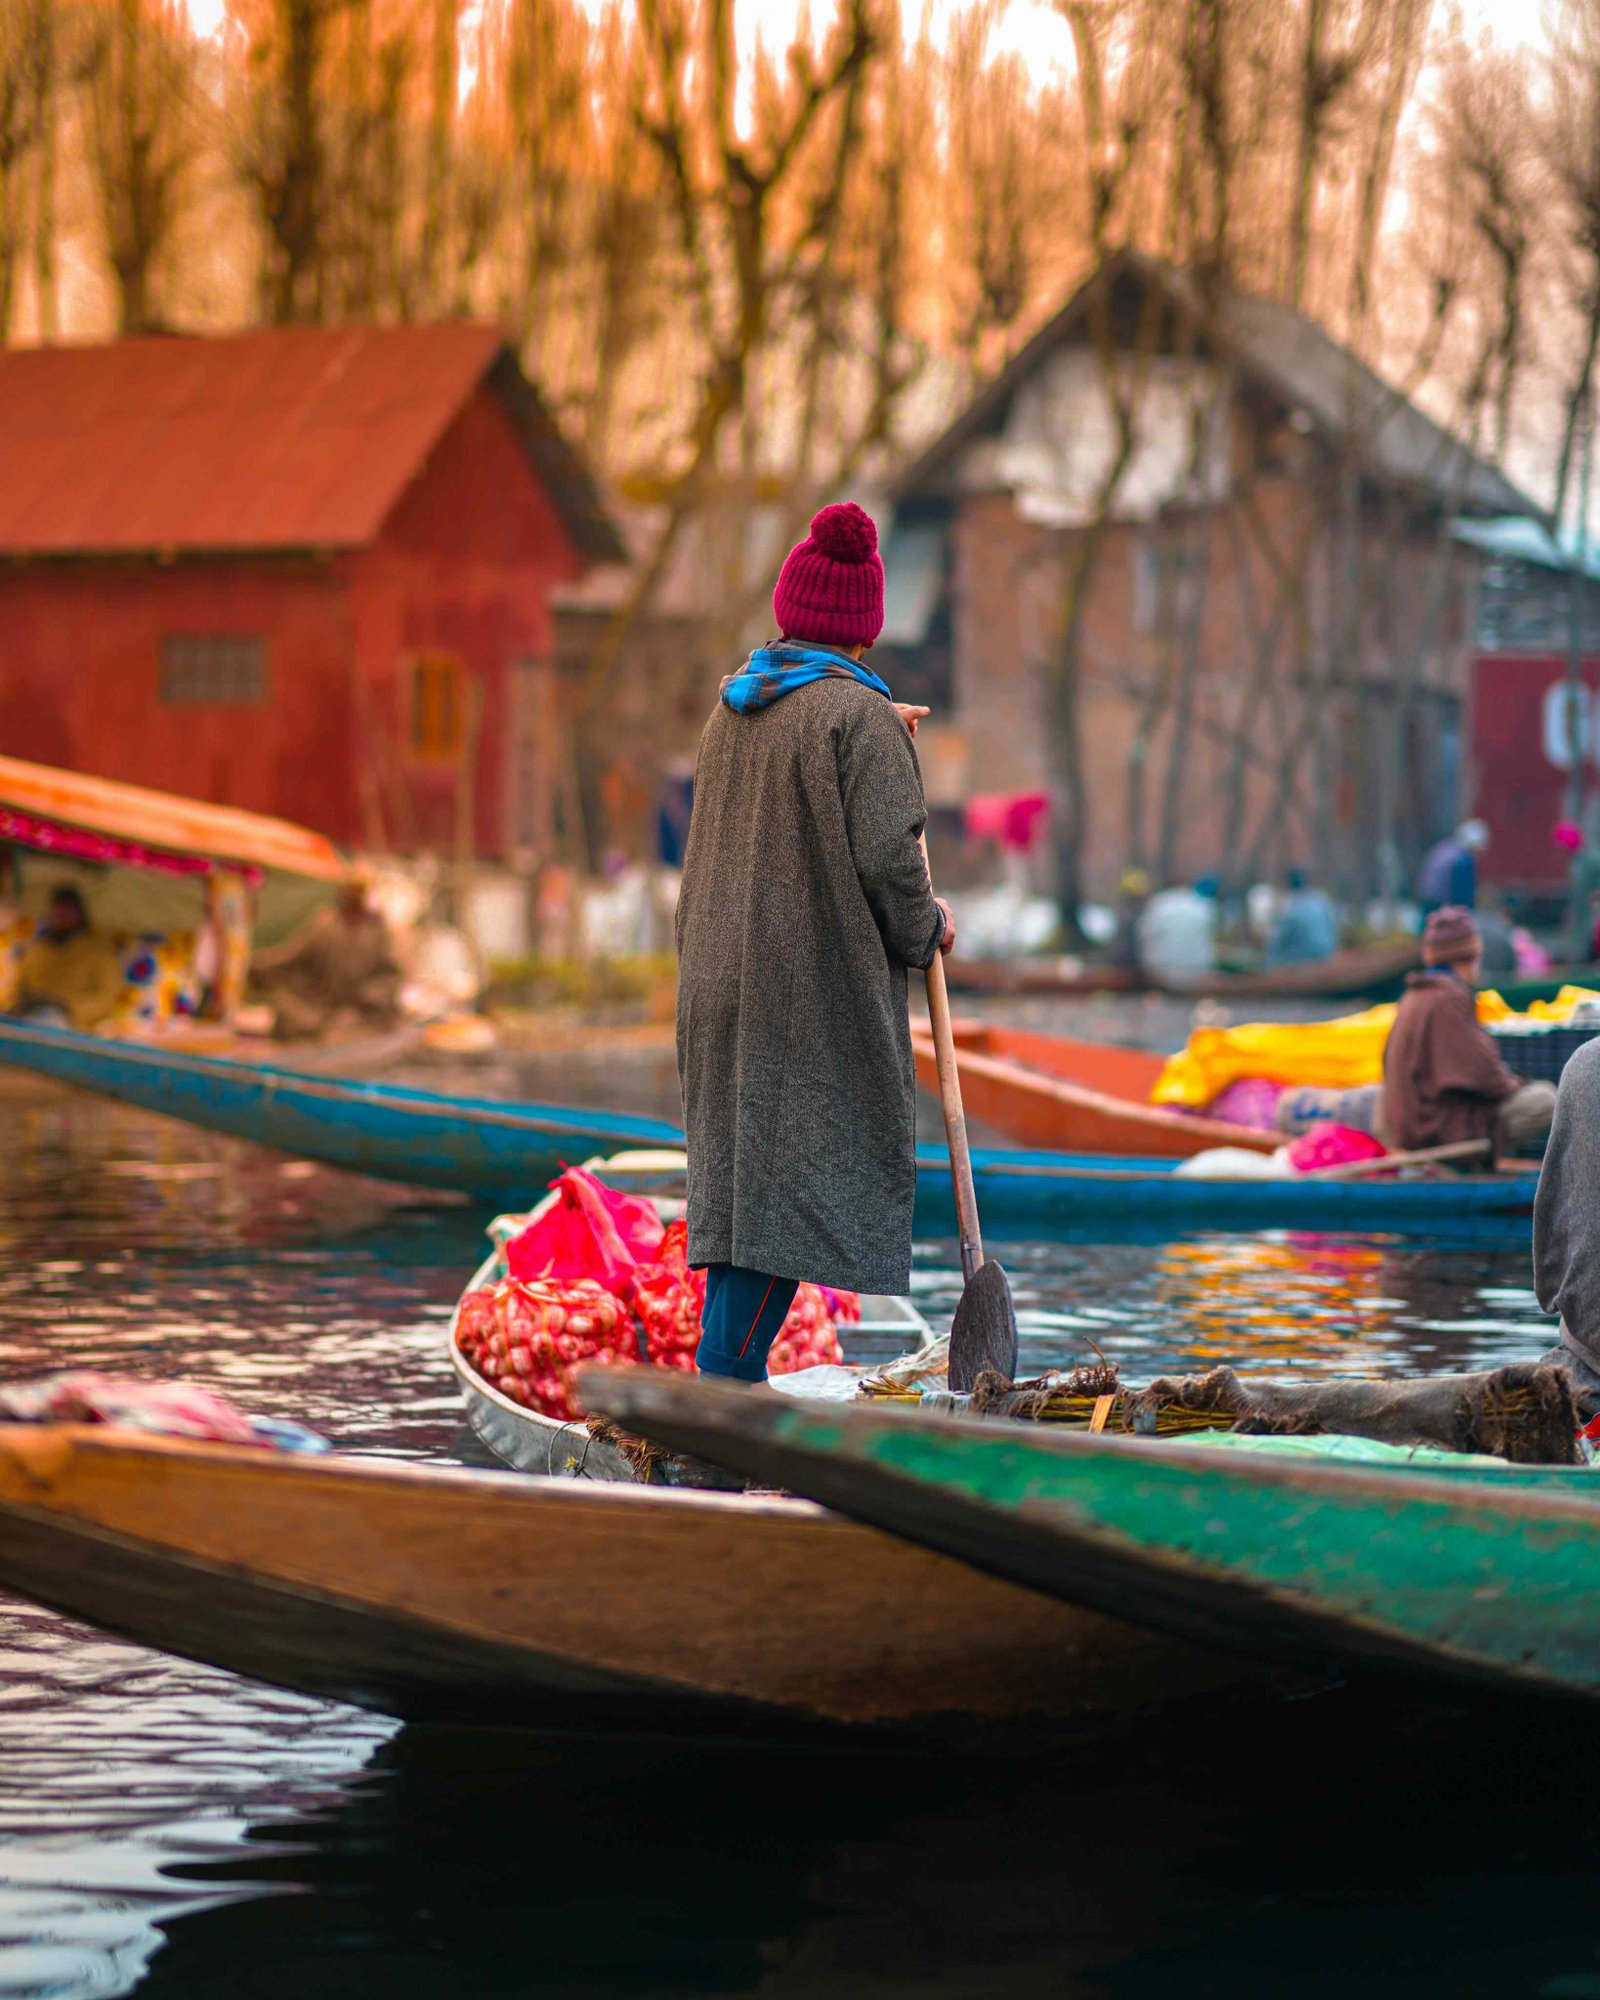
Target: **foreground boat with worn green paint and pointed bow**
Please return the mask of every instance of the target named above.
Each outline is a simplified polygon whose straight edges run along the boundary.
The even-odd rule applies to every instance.
[[[1600,1470],[806,1410],[656,1374],[592,1402],[1070,1604],[1260,1660],[1600,1698]]]

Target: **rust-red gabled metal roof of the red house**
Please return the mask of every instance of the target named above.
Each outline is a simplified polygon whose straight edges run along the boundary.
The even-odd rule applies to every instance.
[[[0,554],[362,548],[488,380],[574,546],[622,546],[494,326],[0,350]]]

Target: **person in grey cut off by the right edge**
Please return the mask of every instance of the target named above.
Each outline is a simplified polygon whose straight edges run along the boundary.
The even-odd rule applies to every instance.
[[[1562,1070],[1556,1122],[1534,1196],[1534,1290],[1560,1314],[1560,1344],[1540,1360],[1564,1368],[1588,1420],[1600,1412],[1600,1040]]]

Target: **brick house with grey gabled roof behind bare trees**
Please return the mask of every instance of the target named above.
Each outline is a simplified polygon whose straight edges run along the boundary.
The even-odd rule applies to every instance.
[[[898,478],[878,658],[954,808],[1060,800],[1070,654],[1088,890],[1304,862],[1362,894],[1466,790],[1486,558],[1452,530],[1528,512],[1302,314],[1124,252]]]

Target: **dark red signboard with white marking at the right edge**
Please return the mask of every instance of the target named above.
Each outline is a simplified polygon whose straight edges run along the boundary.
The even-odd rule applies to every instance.
[[[1584,796],[1600,784],[1600,660],[1584,660],[1578,752]],[[1556,888],[1568,858],[1550,830],[1568,812],[1570,718],[1560,654],[1480,654],[1472,662],[1468,792],[1488,826],[1486,882]]]

